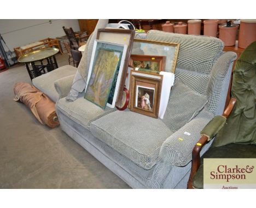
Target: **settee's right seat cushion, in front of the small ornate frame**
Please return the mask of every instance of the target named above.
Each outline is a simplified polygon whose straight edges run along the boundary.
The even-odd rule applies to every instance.
[[[161,119],[116,111],[91,123],[91,133],[144,169],[158,161],[162,143],[173,133]]]

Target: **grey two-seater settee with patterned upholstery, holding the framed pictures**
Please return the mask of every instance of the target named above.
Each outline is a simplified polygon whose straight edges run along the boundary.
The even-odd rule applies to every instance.
[[[223,113],[236,54],[223,52],[223,42],[209,36],[150,30],[145,38],[180,44],[175,83],[182,81],[207,99],[193,117],[183,119],[197,101],[192,103],[184,91],[178,91],[179,95],[184,94],[182,101],[178,100],[172,95],[175,84],[169,101],[173,105],[163,120],[129,109],[103,110],[84,99],[84,92],[77,100],[67,101],[65,96],[71,89],[67,83],[72,83],[73,76],[55,82],[60,93],[56,112],[61,129],[132,188],[187,188],[191,152],[203,127],[214,115]]]

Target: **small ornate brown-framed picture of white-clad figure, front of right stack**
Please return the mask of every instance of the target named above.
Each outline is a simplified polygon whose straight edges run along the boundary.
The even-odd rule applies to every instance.
[[[162,89],[162,75],[131,70],[131,111],[158,118]]]

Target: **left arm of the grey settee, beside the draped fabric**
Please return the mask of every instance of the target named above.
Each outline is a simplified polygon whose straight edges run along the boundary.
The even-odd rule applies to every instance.
[[[54,82],[54,87],[57,93],[59,93],[59,99],[61,99],[62,97],[66,97],[71,90],[74,76],[75,75],[70,75],[61,79],[57,79]]]

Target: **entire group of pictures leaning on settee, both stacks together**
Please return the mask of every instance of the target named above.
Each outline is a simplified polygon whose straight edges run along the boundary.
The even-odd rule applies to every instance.
[[[131,111],[158,118],[161,72],[174,74],[179,44],[133,40],[134,35],[129,29],[98,29],[84,97],[103,109],[123,110],[130,102]]]

